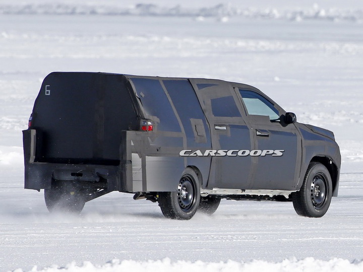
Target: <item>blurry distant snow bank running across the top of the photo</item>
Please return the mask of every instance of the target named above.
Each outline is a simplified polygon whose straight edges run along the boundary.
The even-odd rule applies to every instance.
[[[125,5],[82,5],[82,4],[12,4],[0,5],[0,14],[43,14],[43,15],[109,15],[109,16],[156,16],[156,17],[204,17],[225,19],[228,17],[246,17],[258,19],[282,19],[291,21],[326,20],[326,21],[363,21],[363,10],[341,10],[320,8],[314,5],[309,9],[279,10],[277,8],[239,9],[231,5],[219,4],[213,7],[173,8],[154,4]],[[224,20],[225,21],[225,20]]]

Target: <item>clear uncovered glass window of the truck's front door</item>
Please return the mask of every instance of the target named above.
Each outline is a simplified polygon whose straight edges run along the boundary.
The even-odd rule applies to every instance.
[[[239,90],[239,93],[246,105],[248,114],[269,116],[270,120],[276,120],[280,117],[274,105],[262,95],[247,90]]]

